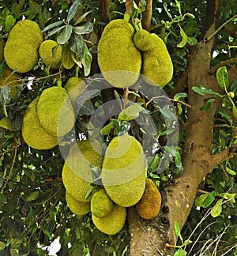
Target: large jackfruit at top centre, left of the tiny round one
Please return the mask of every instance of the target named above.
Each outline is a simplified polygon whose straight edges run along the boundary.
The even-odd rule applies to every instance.
[[[141,71],[141,53],[133,36],[132,25],[119,19],[107,24],[98,43],[100,71],[117,88],[134,85]]]

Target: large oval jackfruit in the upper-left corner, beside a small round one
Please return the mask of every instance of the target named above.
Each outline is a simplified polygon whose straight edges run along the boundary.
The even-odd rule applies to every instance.
[[[11,70],[26,73],[39,60],[38,49],[43,42],[40,26],[30,20],[18,21],[9,32],[4,47],[4,58]]]

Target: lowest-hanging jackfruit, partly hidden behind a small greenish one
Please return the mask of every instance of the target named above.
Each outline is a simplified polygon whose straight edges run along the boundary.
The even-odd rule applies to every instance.
[[[114,205],[114,209],[111,213],[107,214],[107,216],[104,216],[103,218],[98,218],[92,215],[92,221],[100,232],[107,235],[115,235],[125,224],[126,208]]]

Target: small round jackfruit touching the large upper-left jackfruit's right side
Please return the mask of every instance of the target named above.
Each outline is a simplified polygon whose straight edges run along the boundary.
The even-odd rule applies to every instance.
[[[58,69],[61,64],[62,45],[54,40],[45,40],[40,44],[39,55],[46,66]]]

